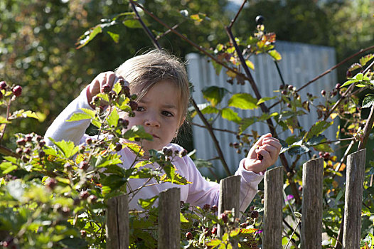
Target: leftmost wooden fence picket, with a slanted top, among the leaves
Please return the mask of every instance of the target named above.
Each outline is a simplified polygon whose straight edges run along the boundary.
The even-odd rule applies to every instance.
[[[110,198],[107,203],[107,249],[129,248],[129,202],[127,195]]]

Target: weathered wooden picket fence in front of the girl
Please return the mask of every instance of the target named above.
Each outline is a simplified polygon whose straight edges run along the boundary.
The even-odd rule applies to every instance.
[[[346,166],[346,199],[344,206],[343,248],[360,248],[361,207],[365,176],[366,149],[348,155]],[[301,248],[321,248],[324,159],[312,159],[303,165]],[[265,174],[265,206],[262,248],[282,248],[283,168]],[[218,213],[239,208],[240,176],[220,181]],[[129,210],[127,196],[109,200],[107,207],[107,248],[129,248]],[[159,195],[158,248],[180,248],[180,189]],[[235,212],[237,215],[237,212]],[[220,233],[220,228],[218,228]],[[237,248],[236,246],[234,248]]]

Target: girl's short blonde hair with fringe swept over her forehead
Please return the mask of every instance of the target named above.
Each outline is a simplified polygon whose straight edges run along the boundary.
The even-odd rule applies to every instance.
[[[115,70],[129,82],[130,92],[137,93],[137,101],[161,80],[175,83],[180,92],[180,121],[186,117],[190,90],[184,64],[176,56],[161,49],[155,49],[126,60]]]

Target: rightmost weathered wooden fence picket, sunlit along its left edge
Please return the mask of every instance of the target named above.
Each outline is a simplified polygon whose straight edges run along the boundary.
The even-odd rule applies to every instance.
[[[347,157],[346,202],[344,204],[343,248],[360,248],[363,180],[366,149]]]

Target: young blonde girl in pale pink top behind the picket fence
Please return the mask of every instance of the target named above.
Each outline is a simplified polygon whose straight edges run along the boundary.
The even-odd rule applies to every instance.
[[[46,141],[52,137],[55,141],[70,140],[75,144],[82,144],[89,137],[85,130],[90,120],[66,122],[75,112],[82,112],[80,108],[92,108],[92,97],[112,87],[119,79],[129,83],[130,92],[137,94],[138,107],[134,117],[129,120],[128,127],[142,125],[146,132],[152,135],[153,140],[144,140],[141,145],[145,152],[149,149],[161,150],[164,147],[173,151],[182,151],[183,148],[171,143],[178,134],[178,129],[186,119],[188,107],[188,78],[186,70],[177,58],[160,50],[150,51],[138,55],[124,62],[116,72],[100,73],[87,85],[78,98],[68,105],[51,124],[46,132]],[[257,192],[257,185],[262,181],[267,167],[277,161],[281,145],[271,134],[260,137],[250,149],[247,157],[240,161],[235,175],[241,176],[240,181],[240,211],[245,211]],[[137,156],[124,147],[118,152],[123,161],[122,167],[128,169]],[[262,155],[262,160],[257,159]],[[181,189],[181,201],[195,206],[218,206],[219,184],[206,181],[196,168],[190,157],[176,157],[173,161],[176,171],[185,177],[191,184],[174,185],[171,183],[156,184],[154,179],[130,179],[128,189],[134,190],[143,186],[137,195],[129,201],[130,209],[139,209],[139,198],[151,198],[160,191],[171,187]]]

